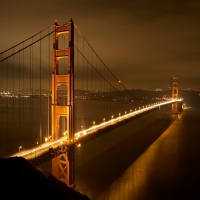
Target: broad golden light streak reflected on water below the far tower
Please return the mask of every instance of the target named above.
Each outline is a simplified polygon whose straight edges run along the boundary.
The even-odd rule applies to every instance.
[[[174,157],[174,155],[178,159],[179,139],[177,135],[173,136],[179,134],[176,131],[178,123],[178,121],[175,121],[97,200],[148,199],[147,193],[151,179],[154,178],[152,177],[153,173],[156,171],[159,173],[158,168],[164,162],[162,159],[171,159],[170,157]],[[172,165],[174,166],[174,164]],[[175,175],[177,170],[178,166],[169,170],[167,176]]]

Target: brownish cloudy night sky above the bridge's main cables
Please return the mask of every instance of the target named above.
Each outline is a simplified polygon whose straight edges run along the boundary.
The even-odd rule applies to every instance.
[[[8,0],[0,52],[71,18],[127,88],[200,89],[199,0]]]

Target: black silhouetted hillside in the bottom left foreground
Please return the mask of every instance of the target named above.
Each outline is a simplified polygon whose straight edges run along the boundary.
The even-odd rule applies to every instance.
[[[89,199],[22,157],[0,158],[0,188],[0,199]]]

